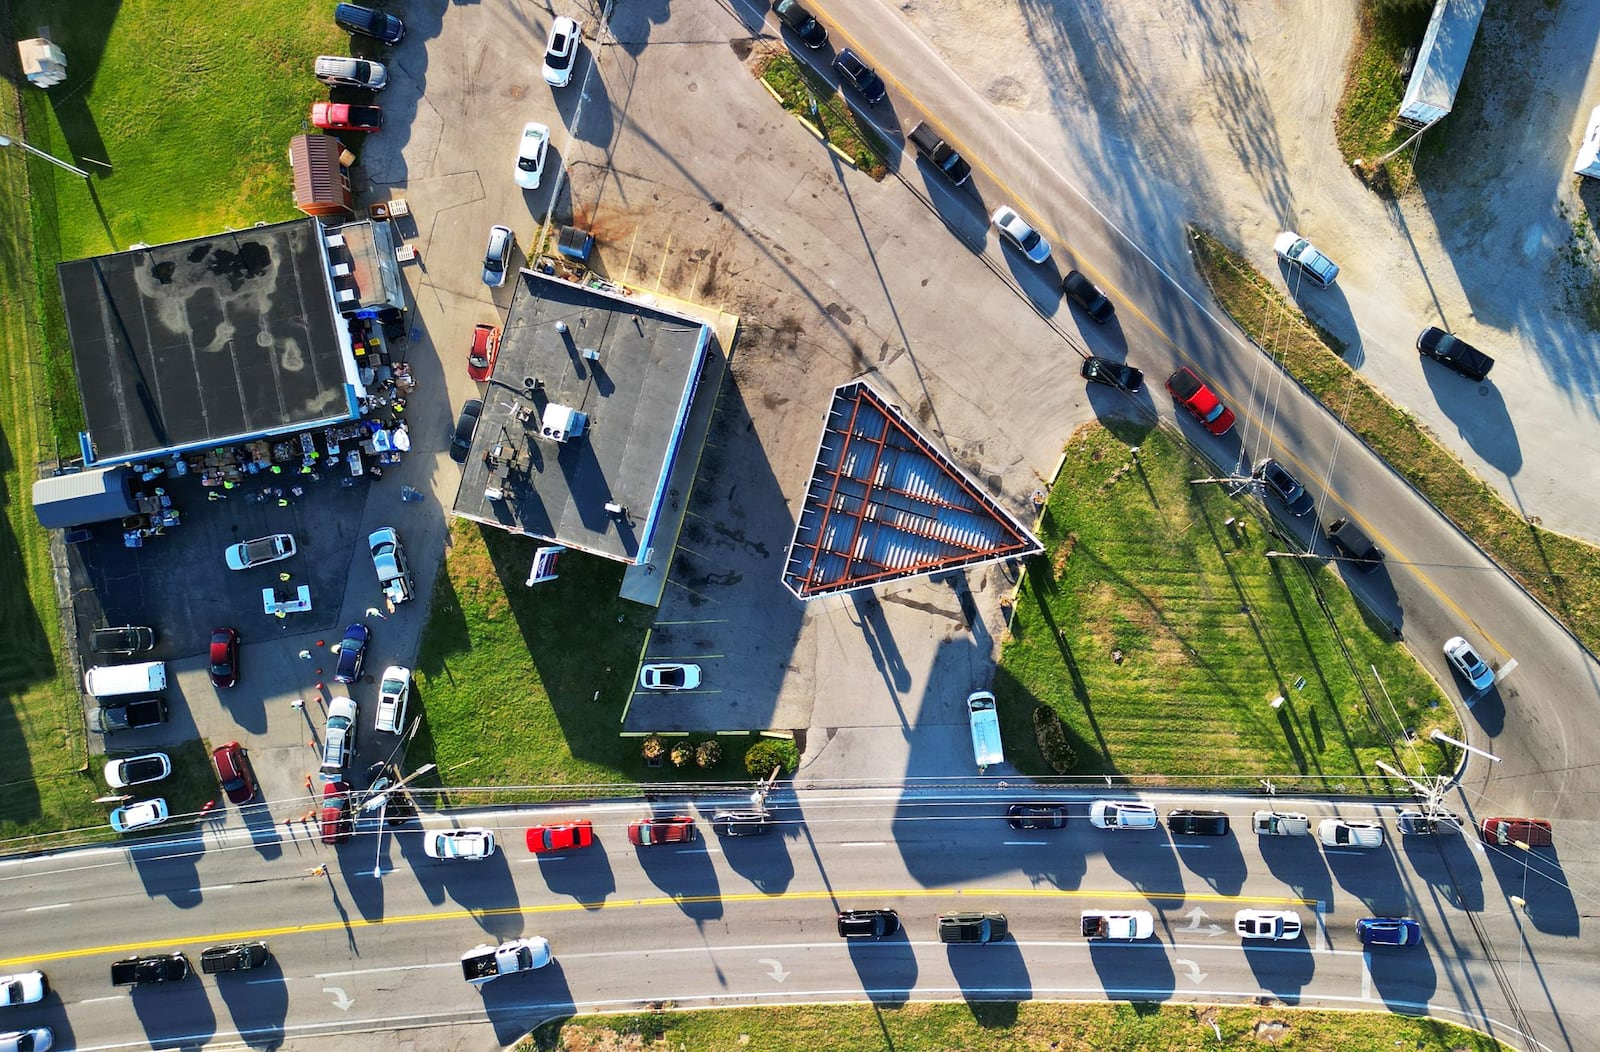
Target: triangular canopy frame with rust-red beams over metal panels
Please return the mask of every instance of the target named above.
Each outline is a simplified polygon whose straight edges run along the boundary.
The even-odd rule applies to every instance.
[[[784,566],[800,600],[1043,552],[862,381],[834,390]]]

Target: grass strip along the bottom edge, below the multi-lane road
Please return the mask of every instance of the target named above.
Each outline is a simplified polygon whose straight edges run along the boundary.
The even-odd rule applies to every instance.
[[[1499,1041],[1437,1018],[1387,1012],[1195,1004],[802,1004],[709,1012],[582,1015],[547,1023],[517,1052],[1496,1052]]]

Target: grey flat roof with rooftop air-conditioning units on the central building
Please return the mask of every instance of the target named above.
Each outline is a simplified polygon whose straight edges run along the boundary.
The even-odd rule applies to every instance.
[[[680,438],[709,341],[701,321],[523,270],[453,512],[643,561],[672,464],[694,456]],[[542,427],[562,406],[587,417],[565,443]]]

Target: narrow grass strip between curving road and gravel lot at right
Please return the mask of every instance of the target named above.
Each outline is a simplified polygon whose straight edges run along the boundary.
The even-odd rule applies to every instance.
[[[1557,534],[1510,508],[1323,341],[1277,286],[1232,248],[1190,227],[1194,259],[1235,325],[1405,476],[1450,521],[1550,609],[1590,652],[1600,652],[1600,548]],[[1333,352],[1333,353],[1330,353]]]

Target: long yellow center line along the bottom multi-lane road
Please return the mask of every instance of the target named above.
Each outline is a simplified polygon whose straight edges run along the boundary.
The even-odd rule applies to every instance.
[[[50,961],[75,961],[96,956],[125,956],[130,953],[146,953],[150,950],[179,950],[194,943],[235,943],[261,942],[277,935],[314,935],[318,932],[355,930],[365,927],[387,927],[398,924],[427,924],[437,921],[482,921],[491,916],[538,916],[549,913],[594,913],[597,910],[635,910],[654,907],[686,907],[701,903],[738,903],[738,902],[816,902],[816,900],[872,899],[875,902],[894,899],[1136,899],[1174,903],[1189,902],[1254,902],[1272,905],[1315,907],[1315,899],[1293,899],[1278,895],[1222,895],[1218,892],[1138,892],[1138,891],[1077,891],[1067,887],[915,887],[915,889],[883,889],[883,891],[795,891],[768,895],[762,892],[741,892],[733,895],[658,895],[653,899],[618,899],[611,902],[552,902],[536,907],[502,907],[496,910],[437,910],[432,913],[403,913],[384,918],[354,918],[349,921],[318,921],[315,924],[286,924],[282,927],[258,927],[250,930],[218,932],[214,935],[184,935],[179,938],[152,938],[144,942],[125,942],[106,946],[85,946],[82,950],[59,950],[56,953],[40,953],[26,958],[0,959],[0,969],[11,970],[26,964],[46,964]],[[1170,907],[1173,908],[1173,907]]]

